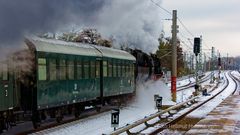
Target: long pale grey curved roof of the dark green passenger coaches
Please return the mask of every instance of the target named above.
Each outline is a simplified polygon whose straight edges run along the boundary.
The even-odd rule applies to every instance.
[[[56,39],[44,39],[39,37],[26,38],[26,44],[37,52],[62,53],[83,56],[108,57],[125,60],[136,60],[126,51],[97,46],[86,43],[66,42]]]

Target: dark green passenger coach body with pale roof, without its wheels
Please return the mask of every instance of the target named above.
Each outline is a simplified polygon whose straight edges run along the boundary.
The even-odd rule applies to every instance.
[[[135,57],[125,51],[36,37],[26,39],[26,44],[35,57],[36,110],[99,102],[135,91]]]

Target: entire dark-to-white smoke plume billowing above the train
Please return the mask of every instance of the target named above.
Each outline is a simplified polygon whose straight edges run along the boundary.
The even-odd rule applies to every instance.
[[[148,0],[0,1],[1,56],[6,47],[20,48],[25,34],[96,28],[103,37],[153,52],[161,31],[160,9]]]

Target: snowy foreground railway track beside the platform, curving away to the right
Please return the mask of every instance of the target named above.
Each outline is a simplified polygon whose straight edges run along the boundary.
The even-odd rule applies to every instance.
[[[201,102],[197,102],[194,105],[192,105],[190,108],[187,109],[187,111],[185,111],[184,113],[180,114],[179,116],[173,118],[172,116],[174,116],[175,114],[177,114],[180,110],[184,110],[186,109],[186,106],[189,107],[189,104],[192,104],[196,99],[199,99],[200,96],[198,97],[194,97],[188,101],[185,101],[184,103],[180,103],[178,104],[176,107],[171,107],[168,108],[168,110],[163,110],[160,111],[156,114],[153,114],[149,117],[146,117],[142,120],[136,121],[133,124],[127,125],[125,127],[119,128],[116,131],[110,133],[112,135],[116,135],[116,134],[120,134],[120,133],[128,133],[128,134],[150,134],[150,135],[154,135],[157,133],[160,133],[161,131],[167,129],[168,127],[171,127],[172,125],[176,124],[177,122],[179,122],[180,120],[182,120],[184,117],[186,117],[189,113],[193,112],[194,110],[198,109],[199,107],[203,106],[204,104],[207,104],[209,101],[211,101],[212,99],[214,99],[215,97],[217,97],[218,95],[220,95],[223,91],[225,91],[228,86],[229,86],[229,78],[231,78],[233,80],[233,82],[235,83],[235,88],[234,91],[232,92],[232,94],[234,94],[238,88],[238,83],[237,81],[234,79],[233,75],[228,72],[228,76],[225,74],[225,78],[226,78],[226,85],[224,85],[224,87],[218,91],[215,95],[207,98],[204,101]],[[170,113],[170,111],[175,111],[175,113]],[[162,118],[163,114],[169,113],[170,116],[168,119],[166,116],[165,118]],[[155,120],[154,120],[155,119]],[[156,121],[156,119],[158,119],[158,121]],[[160,119],[160,120],[159,120]],[[149,124],[151,123],[151,124]],[[137,126],[140,125],[145,125],[145,127],[141,130],[136,131]]]

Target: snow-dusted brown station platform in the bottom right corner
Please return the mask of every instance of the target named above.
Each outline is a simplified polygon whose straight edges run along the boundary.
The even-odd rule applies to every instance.
[[[240,134],[240,95],[231,95],[186,134]]]

